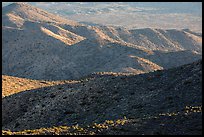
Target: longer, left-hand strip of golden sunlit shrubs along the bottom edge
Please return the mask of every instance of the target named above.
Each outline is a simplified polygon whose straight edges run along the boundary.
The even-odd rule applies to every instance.
[[[127,118],[118,120],[106,120],[102,124],[93,123],[92,125],[81,127],[78,124],[73,126],[59,126],[51,128],[40,128],[35,130],[23,130],[12,132],[10,130],[3,130],[2,135],[95,135],[96,133],[116,127],[118,125],[124,125],[127,122]]]

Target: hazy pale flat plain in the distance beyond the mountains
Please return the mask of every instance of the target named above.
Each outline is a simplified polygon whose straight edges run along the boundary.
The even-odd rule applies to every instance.
[[[3,6],[12,2],[3,2]],[[202,2],[27,2],[91,25],[191,29],[202,33]]]

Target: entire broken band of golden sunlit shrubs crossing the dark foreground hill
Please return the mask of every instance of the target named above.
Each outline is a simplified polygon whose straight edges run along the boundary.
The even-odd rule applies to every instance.
[[[172,112],[172,113],[160,113],[157,116],[148,116],[144,117],[144,119],[158,119],[162,116],[173,117],[182,115],[190,115],[192,113],[201,113],[202,106],[186,106],[183,112]],[[127,119],[124,116],[121,119],[117,120],[105,120],[104,123],[93,123],[88,126],[81,127],[78,124],[73,126],[59,126],[59,127],[51,127],[51,128],[40,128],[34,130],[23,130],[12,132],[10,130],[3,130],[2,135],[98,135],[103,134],[105,130],[114,130],[118,126],[126,126],[127,123],[131,123],[132,119]],[[164,125],[164,124],[160,124]]]

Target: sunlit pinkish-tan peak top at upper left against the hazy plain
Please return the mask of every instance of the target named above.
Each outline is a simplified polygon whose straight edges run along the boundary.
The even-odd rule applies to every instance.
[[[16,2],[3,7],[2,19],[3,26],[13,24],[12,27],[22,27],[25,21],[79,25],[77,22],[64,19],[58,15],[48,13],[40,8],[30,6],[23,2]],[[16,26],[14,26],[14,24]]]

